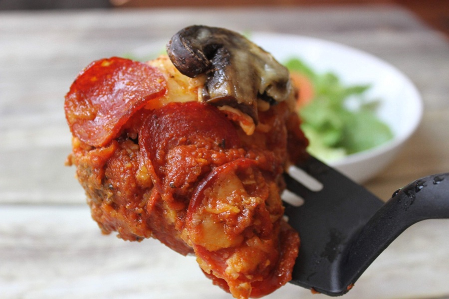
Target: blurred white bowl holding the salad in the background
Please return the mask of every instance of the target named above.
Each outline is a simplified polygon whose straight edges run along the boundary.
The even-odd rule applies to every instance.
[[[280,62],[298,57],[318,73],[334,72],[344,84],[370,84],[368,95],[379,98],[378,116],[394,138],[373,149],[350,154],[328,164],[356,182],[375,176],[403,148],[418,128],[423,102],[415,85],[389,63],[366,52],[316,38],[254,33],[251,40]]]

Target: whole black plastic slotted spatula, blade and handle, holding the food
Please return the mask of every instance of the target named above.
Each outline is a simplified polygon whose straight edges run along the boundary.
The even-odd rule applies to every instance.
[[[301,169],[305,176],[296,174]],[[307,176],[318,182],[299,182]],[[314,157],[290,167],[285,180],[287,190],[304,199],[300,206],[285,203],[301,238],[291,283],[329,296],[348,292],[412,224],[449,218],[449,173],[420,178],[386,203]]]

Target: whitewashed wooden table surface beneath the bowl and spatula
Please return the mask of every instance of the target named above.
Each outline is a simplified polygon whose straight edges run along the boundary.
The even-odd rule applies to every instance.
[[[0,297],[230,298],[193,257],[155,240],[102,236],[64,167],[63,97],[92,60],[190,24],[292,33],[368,51],[397,66],[425,101],[418,132],[366,186],[381,198],[449,170],[449,44],[397,6],[0,13]],[[449,298],[449,221],[407,230],[345,298]],[[287,285],[267,298],[324,298]]]

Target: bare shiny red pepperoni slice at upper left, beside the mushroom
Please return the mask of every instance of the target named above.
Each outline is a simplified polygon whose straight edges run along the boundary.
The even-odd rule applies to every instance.
[[[154,67],[112,57],[92,62],[75,79],[65,96],[65,114],[72,134],[101,147],[117,137],[126,121],[166,90]]]

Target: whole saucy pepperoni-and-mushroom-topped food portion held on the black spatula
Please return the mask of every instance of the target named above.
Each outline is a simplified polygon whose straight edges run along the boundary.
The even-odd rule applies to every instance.
[[[87,66],[65,97],[92,217],[124,240],[195,254],[235,298],[291,279],[299,237],[282,173],[306,155],[289,73],[242,35],[182,29],[168,56]]]

